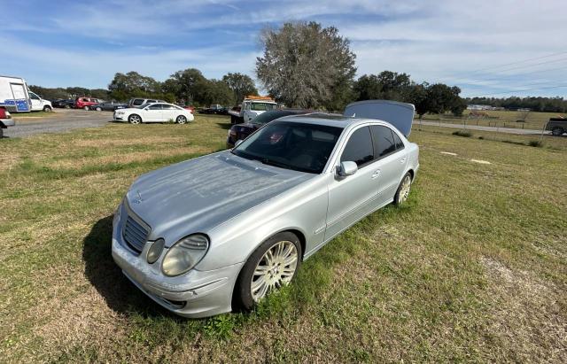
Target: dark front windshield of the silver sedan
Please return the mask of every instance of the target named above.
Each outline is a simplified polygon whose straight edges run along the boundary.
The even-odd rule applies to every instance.
[[[245,159],[296,171],[320,174],[343,128],[274,121],[232,150]]]

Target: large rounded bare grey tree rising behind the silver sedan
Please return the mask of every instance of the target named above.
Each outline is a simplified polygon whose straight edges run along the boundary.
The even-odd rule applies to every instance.
[[[350,90],[356,73],[348,39],[336,27],[291,22],[260,32],[264,57],[256,74],[268,92],[285,105],[339,108],[336,95]],[[337,101],[335,101],[337,100]]]

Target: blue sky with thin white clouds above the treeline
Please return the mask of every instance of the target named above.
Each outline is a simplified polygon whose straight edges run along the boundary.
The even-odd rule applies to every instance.
[[[567,2],[0,0],[0,74],[45,87],[106,88],[189,67],[254,78],[262,27],[315,20],[351,40],[358,75],[445,82],[462,96],[567,96]],[[565,87],[563,87],[565,86]]]

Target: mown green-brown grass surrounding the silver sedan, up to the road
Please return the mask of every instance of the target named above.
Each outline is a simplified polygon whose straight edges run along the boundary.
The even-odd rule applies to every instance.
[[[0,143],[1,361],[567,361],[567,138],[415,129],[408,205],[338,236],[254,313],[153,304],[113,264],[113,210],[136,176],[221,150],[227,121]]]

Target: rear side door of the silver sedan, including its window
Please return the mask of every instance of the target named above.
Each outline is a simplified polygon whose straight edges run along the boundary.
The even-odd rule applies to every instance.
[[[385,125],[371,125],[377,170],[377,206],[392,202],[402,174],[408,164],[408,153],[397,132]]]

